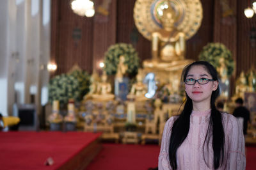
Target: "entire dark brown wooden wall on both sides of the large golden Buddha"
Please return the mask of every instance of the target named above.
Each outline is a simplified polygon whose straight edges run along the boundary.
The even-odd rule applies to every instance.
[[[134,26],[133,8],[136,0],[112,0],[109,16],[79,17],[72,12],[70,0],[53,0],[51,16],[51,60],[58,65],[60,74],[74,64],[92,73],[99,71],[99,62],[109,45],[118,42],[132,43],[141,61],[151,58],[150,42],[138,33]],[[256,17],[246,19],[243,10],[246,1],[225,0],[233,12],[223,17],[220,0],[202,0],[204,18],[196,35],[187,42],[186,58],[198,60],[198,54],[208,42],[224,43],[232,51],[236,61],[234,77],[255,68],[255,39],[250,31],[256,27]],[[95,0],[95,5],[102,0]],[[256,36],[254,36],[256,37]],[[253,46],[254,45],[254,46]],[[234,79],[234,78],[233,78]]]

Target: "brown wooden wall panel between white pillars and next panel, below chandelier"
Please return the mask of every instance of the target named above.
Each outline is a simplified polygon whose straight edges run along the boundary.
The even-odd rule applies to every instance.
[[[68,0],[54,0],[51,19],[51,61],[58,66],[55,74],[67,72],[76,63],[92,72],[93,18],[73,13]]]

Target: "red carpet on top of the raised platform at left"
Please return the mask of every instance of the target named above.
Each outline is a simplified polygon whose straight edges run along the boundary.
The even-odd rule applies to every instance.
[[[57,169],[99,136],[86,132],[0,132],[0,169]],[[54,164],[45,166],[49,157]]]

